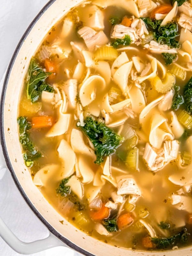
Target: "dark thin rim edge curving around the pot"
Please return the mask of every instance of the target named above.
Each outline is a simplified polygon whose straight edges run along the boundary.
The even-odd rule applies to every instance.
[[[4,78],[4,84],[3,84],[3,88],[2,88],[2,94],[1,94],[1,99],[0,99],[0,143],[2,146],[2,151],[3,151],[3,155],[5,158],[5,162],[6,165],[8,167],[8,170],[11,172],[12,178],[18,188],[18,190],[20,191],[20,194],[22,195],[22,197],[24,198],[24,200],[26,201],[26,203],[28,204],[28,206],[30,207],[30,209],[35,213],[35,215],[38,217],[39,220],[41,220],[41,222],[48,228],[48,230],[54,235],[56,236],[58,239],[60,239],[64,244],[66,244],[68,247],[70,247],[71,249],[84,254],[86,256],[94,256],[92,253],[87,252],[85,250],[83,250],[81,247],[77,246],[76,244],[73,244],[72,242],[70,242],[67,238],[65,238],[64,236],[61,236],[45,219],[44,217],[37,211],[37,209],[35,208],[35,206],[30,202],[28,196],[26,195],[26,193],[24,192],[23,188],[20,185],[20,182],[18,180],[18,178],[15,175],[15,172],[12,168],[12,164],[7,152],[7,148],[6,148],[6,142],[5,142],[5,134],[4,134],[4,104],[5,104],[5,95],[6,95],[6,89],[7,89],[7,85],[8,85],[8,81],[10,78],[10,74],[11,74],[11,70],[12,67],[14,65],[15,59],[20,51],[20,48],[23,44],[23,42],[25,41],[25,39],[27,38],[27,36],[29,35],[30,31],[32,30],[32,28],[35,26],[36,22],[39,20],[39,18],[44,14],[44,12],[46,12],[46,10],[55,2],[56,0],[50,0],[47,4],[44,5],[44,7],[41,9],[41,11],[36,15],[36,17],[34,18],[34,20],[30,23],[30,25],[28,26],[27,30],[25,31],[25,33],[23,34],[23,36],[21,37],[13,55],[12,58],[10,60],[10,63],[8,65],[7,68],[7,72]]]

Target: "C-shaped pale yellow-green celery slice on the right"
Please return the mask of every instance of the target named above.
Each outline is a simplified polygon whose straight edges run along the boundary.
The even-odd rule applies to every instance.
[[[173,85],[175,84],[175,76],[170,72],[167,72],[163,80],[156,76],[152,79],[151,84],[157,92],[166,93],[173,88]]]

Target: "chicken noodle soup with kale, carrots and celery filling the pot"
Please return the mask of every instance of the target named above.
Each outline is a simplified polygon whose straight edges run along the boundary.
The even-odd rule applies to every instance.
[[[105,243],[192,242],[191,16],[188,1],[86,1],[31,59],[25,164],[63,218]]]

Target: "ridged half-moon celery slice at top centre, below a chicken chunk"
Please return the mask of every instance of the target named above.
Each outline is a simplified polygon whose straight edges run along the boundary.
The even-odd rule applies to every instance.
[[[98,48],[93,58],[95,60],[115,60],[118,57],[118,51],[112,46],[101,46]]]

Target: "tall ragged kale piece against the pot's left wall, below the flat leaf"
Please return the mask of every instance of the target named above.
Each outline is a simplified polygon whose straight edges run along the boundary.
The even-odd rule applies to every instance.
[[[32,167],[34,160],[41,157],[41,153],[34,147],[33,142],[29,139],[29,130],[31,123],[26,116],[20,116],[17,119],[19,124],[19,140],[23,148],[23,158],[27,167]]]

